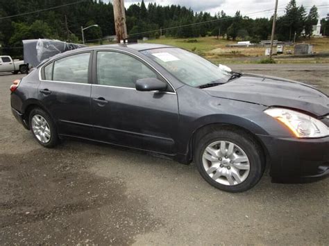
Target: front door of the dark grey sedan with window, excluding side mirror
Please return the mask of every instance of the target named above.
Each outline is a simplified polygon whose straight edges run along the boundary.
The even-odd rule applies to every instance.
[[[174,89],[137,91],[140,78],[165,81],[139,58],[121,51],[97,51],[92,85],[94,137],[165,154],[176,152],[178,101]]]

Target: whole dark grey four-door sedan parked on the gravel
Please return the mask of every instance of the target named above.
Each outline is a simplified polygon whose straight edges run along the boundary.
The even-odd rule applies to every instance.
[[[196,164],[240,192],[329,174],[329,100],[310,85],[230,72],[183,49],[117,44],[67,51],[10,87],[12,113],[42,146],[74,137]]]

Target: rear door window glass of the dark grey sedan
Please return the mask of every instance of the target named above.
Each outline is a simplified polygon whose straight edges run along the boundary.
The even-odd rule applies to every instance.
[[[56,60],[53,62],[53,80],[87,84],[89,58],[90,53],[81,53]]]

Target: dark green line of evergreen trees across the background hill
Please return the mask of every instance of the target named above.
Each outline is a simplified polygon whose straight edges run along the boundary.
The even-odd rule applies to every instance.
[[[72,3],[72,0],[0,0],[0,18],[66,3]],[[295,36],[310,37],[312,26],[317,24],[318,18],[316,6],[307,12],[303,6],[296,5],[296,0],[291,0],[285,7],[285,14],[278,17],[276,38],[288,41]],[[101,40],[106,35],[115,35],[113,22],[112,3],[101,0],[85,0],[62,8],[0,19],[1,50],[15,53],[15,47],[22,46],[22,39],[49,38],[78,43],[81,42],[81,26],[98,24],[99,28],[85,31],[85,39],[95,42],[95,39]],[[191,8],[179,5],[149,3],[146,6],[143,0],[126,9],[128,35],[135,38],[159,37],[161,34],[187,38],[221,35],[227,39],[259,42],[271,35],[271,22],[271,18],[242,16],[239,10],[234,16],[226,15],[223,10],[212,16],[208,12],[194,12]],[[321,22],[329,32],[328,19],[322,19]],[[174,28],[177,26],[181,27]]]

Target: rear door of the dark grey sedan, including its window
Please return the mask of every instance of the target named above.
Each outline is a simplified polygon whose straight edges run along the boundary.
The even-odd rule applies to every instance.
[[[91,61],[92,52],[75,53],[42,69],[39,97],[56,120],[58,134],[92,138]]]

